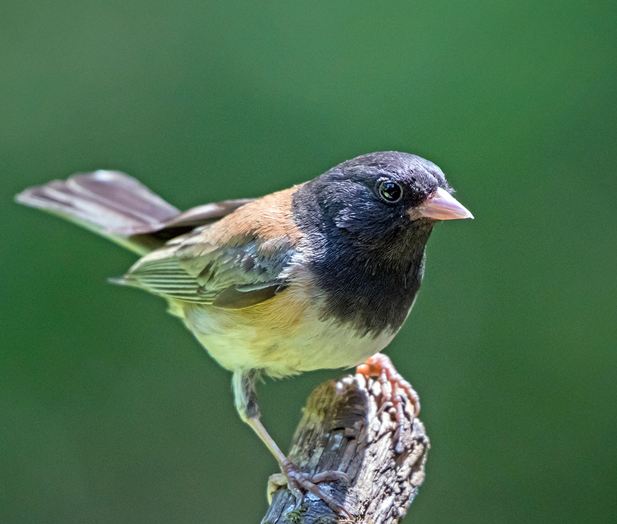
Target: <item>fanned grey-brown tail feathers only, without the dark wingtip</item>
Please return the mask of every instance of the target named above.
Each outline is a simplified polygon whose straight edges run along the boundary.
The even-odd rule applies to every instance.
[[[138,254],[156,246],[133,233],[159,229],[180,214],[137,180],[117,171],[53,180],[26,189],[15,200],[75,222]]]

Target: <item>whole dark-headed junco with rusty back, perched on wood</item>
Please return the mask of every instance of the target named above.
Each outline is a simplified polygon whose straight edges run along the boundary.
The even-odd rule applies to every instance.
[[[256,200],[184,213],[115,171],[55,180],[17,195],[143,255],[117,283],[165,297],[208,353],[233,372],[235,405],[278,460],[298,499],[309,490],[344,512],[320,481],[298,471],[259,421],[255,382],[320,368],[385,370],[376,355],[407,318],[439,220],[472,218],[441,169],[379,152]]]

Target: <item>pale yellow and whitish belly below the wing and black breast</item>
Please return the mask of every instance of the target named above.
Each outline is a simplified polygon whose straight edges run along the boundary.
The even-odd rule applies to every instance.
[[[303,289],[245,309],[184,302],[184,323],[208,353],[228,370],[263,369],[285,376],[324,368],[348,368],[382,350],[396,331],[359,335],[334,320],[319,320]]]

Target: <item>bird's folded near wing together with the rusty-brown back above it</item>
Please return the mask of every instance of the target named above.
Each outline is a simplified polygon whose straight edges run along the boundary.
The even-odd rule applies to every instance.
[[[289,285],[285,269],[304,238],[291,211],[297,189],[245,203],[213,224],[167,241],[139,260],[119,283],[228,309],[275,296]]]

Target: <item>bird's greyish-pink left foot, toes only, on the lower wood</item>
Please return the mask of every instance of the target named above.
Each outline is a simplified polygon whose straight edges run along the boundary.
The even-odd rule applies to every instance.
[[[298,466],[293,464],[291,460],[285,460],[282,465],[282,473],[276,473],[271,475],[268,480],[268,502],[272,502],[272,495],[278,490],[278,488],[289,488],[289,490],[295,496],[296,508],[300,506],[304,495],[308,492],[314,495],[318,499],[322,499],[326,504],[332,508],[332,511],[346,517],[348,521],[353,521],[353,517],[343,506],[338,503],[332,495],[326,492],[323,488],[318,486],[321,482],[334,481],[342,479],[348,484],[350,482],[349,477],[342,471],[322,471],[322,473],[304,473],[298,471]]]

